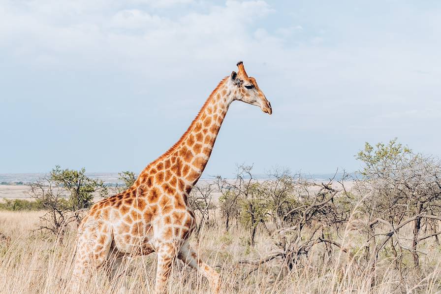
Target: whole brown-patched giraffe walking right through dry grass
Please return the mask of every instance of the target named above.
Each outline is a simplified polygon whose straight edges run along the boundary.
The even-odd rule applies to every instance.
[[[195,217],[187,199],[210,158],[230,103],[240,100],[272,113],[270,102],[247,75],[243,62],[237,67],[237,73],[221,80],[176,144],[148,164],[130,188],[95,203],[84,217],[78,228],[74,293],[80,292],[91,268],[113,260],[112,280],[124,256],[152,252],[158,259],[155,293],[165,291],[176,258],[197,269],[209,279],[213,292],[219,293],[219,273],[189,246]]]

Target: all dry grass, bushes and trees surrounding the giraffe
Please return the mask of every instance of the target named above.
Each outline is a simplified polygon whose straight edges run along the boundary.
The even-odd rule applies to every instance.
[[[441,292],[439,159],[396,140],[366,144],[356,157],[363,169],[355,177],[343,172],[319,182],[275,168],[258,180],[241,165],[235,179],[193,189],[191,244],[221,273],[222,293]],[[117,189],[135,178],[121,176]],[[68,293],[75,227],[95,191],[108,192],[84,170],[56,167],[32,185],[44,210],[0,212],[0,293]],[[151,292],[154,261],[154,254],[126,259],[128,293]],[[115,292],[105,270],[84,293]],[[209,287],[175,262],[169,293]]]

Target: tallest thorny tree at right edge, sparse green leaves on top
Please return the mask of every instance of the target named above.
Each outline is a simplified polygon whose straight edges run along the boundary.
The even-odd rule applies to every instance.
[[[397,139],[387,144],[378,143],[375,147],[366,143],[357,159],[364,164],[361,171],[363,177],[357,181],[357,188],[362,196],[362,207],[370,217],[365,230],[370,240],[366,246],[366,256],[369,256],[370,250],[374,250],[375,263],[378,252],[390,240],[396,257],[395,246],[400,251],[408,250],[415,267],[418,267],[418,243],[441,233],[436,231],[437,223],[441,220],[440,161],[413,153]],[[410,248],[399,233],[409,223],[413,223]],[[424,231],[421,230],[423,224],[426,225]],[[384,227],[386,232],[381,232]],[[377,244],[378,236],[383,238]],[[402,254],[396,260],[397,266],[401,267]]]

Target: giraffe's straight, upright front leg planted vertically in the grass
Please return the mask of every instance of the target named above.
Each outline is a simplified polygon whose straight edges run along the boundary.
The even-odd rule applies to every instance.
[[[173,244],[162,244],[157,250],[158,267],[156,270],[155,293],[163,294],[167,287],[168,276],[171,272],[173,261],[176,257],[176,246]]]

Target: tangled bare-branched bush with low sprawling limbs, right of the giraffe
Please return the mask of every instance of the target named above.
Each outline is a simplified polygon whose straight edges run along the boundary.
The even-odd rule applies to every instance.
[[[278,173],[275,179],[261,184],[259,193],[262,197],[267,196],[263,207],[266,214],[271,215],[270,219],[275,220],[271,223],[278,228],[267,230],[277,249],[259,261],[239,261],[257,266],[248,274],[261,264],[275,259],[281,261],[281,270],[290,270],[301,256],[308,257],[317,244],[325,244],[328,254],[331,246],[347,252],[330,234],[325,234],[331,227],[338,232],[349,219],[352,200],[347,195],[344,179],[346,174],[340,181],[331,178],[326,183],[320,183],[300,176],[293,177],[284,171]],[[334,182],[338,182],[340,189],[335,187]],[[271,193],[274,195],[270,196]]]

